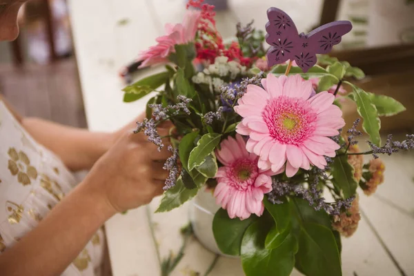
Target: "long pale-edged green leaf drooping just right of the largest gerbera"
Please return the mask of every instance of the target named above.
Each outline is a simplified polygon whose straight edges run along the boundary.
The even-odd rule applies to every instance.
[[[348,82],[346,82],[348,83]],[[371,101],[370,95],[361,88],[357,88],[352,83],[348,83],[353,87],[353,97],[357,103],[357,112],[364,119],[362,128],[371,137],[373,144],[380,146],[380,128],[381,121],[378,117],[377,108]]]

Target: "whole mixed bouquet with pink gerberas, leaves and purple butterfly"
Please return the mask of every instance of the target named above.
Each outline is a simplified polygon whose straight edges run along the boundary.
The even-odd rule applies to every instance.
[[[167,24],[157,45],[141,53],[141,66],[165,63],[166,70],[124,89],[127,102],[154,93],[136,131],[160,149],[167,137],[157,125],[175,125],[157,212],[207,189],[221,207],[211,226],[217,246],[240,256],[246,275],[290,275],[294,267],[342,275],[340,234],[357,229],[357,189],[370,195],[382,183],[379,154],[414,147],[413,135],[382,146],[380,117],[404,106],[351,83],[364,77],[359,68],[315,55],[341,41],[348,21],[298,34],[287,14],[270,8],[266,36],[238,24],[224,43],[213,6],[201,2],[190,0],[197,10]],[[355,101],[370,151],[357,146],[359,120],[342,132],[344,101]],[[364,164],[362,155],[373,159]]]

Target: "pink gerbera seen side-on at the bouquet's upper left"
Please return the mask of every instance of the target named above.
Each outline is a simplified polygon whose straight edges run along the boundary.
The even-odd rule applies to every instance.
[[[175,52],[174,46],[176,44],[186,44],[195,39],[200,18],[201,12],[188,10],[182,24],[167,23],[165,26],[166,35],[157,37],[158,44],[151,46],[139,55],[138,59],[144,61],[139,67],[168,62],[168,56],[171,52]]]

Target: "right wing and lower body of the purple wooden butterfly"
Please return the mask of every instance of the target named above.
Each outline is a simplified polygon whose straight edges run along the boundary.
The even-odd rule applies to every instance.
[[[316,54],[327,54],[352,29],[349,21],[327,23],[306,35],[300,36],[300,50],[295,52],[297,66],[307,72],[316,64]]]

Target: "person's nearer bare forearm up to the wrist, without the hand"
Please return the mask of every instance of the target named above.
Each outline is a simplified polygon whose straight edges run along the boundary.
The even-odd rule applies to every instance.
[[[115,214],[91,186],[79,184],[32,232],[0,255],[1,275],[60,275]]]

